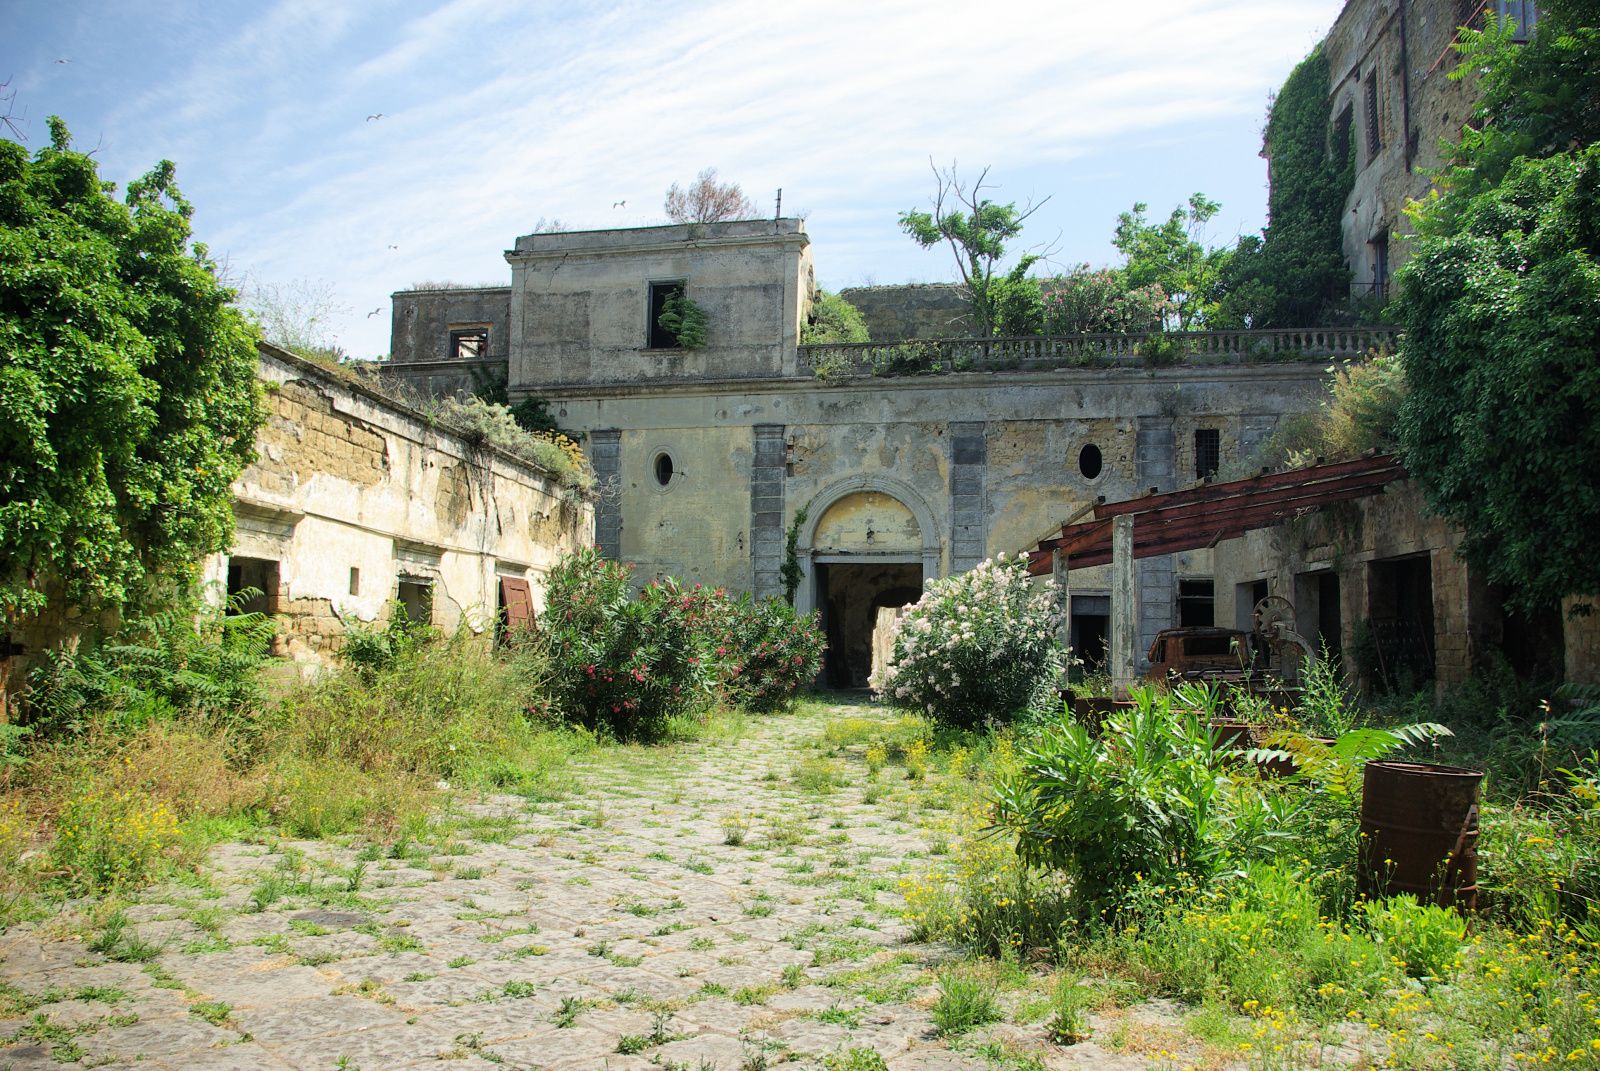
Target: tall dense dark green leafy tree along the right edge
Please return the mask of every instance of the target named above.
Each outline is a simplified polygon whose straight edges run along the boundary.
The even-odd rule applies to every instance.
[[[1541,11],[1542,11],[1541,5]],[[1522,608],[1600,591],[1600,29],[1464,32],[1480,78],[1398,272],[1406,469]]]

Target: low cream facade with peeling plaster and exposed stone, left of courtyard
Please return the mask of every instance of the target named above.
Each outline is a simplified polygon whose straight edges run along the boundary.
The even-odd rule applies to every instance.
[[[299,664],[395,605],[486,632],[507,581],[542,605],[544,573],[594,538],[592,501],[520,458],[275,347],[261,379],[269,416],[234,482],[234,546],[206,578],[261,591],[251,605],[280,620],[277,653]]]

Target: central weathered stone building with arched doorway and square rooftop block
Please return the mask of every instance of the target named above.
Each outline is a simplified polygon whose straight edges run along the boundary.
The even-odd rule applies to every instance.
[[[506,259],[506,290],[397,293],[387,373],[502,375],[546,399],[610,488],[598,544],[642,576],[782,594],[792,535],[795,604],[822,608],[835,684],[866,679],[877,607],[1032,548],[1096,496],[1248,466],[1320,400],[1330,355],[1376,339],[1197,333],[1170,367],[1133,338],[800,346],[814,288],[797,219],[533,234]],[[661,331],[674,293],[704,311],[704,346]],[[1141,562],[1144,642],[1210,620],[1211,576],[1210,551]],[[1106,572],[1075,576],[1091,658],[1107,616]]]

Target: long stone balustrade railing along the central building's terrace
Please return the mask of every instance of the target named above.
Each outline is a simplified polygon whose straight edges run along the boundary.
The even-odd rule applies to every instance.
[[[800,375],[917,376],[947,371],[1051,371],[1118,365],[1253,363],[1360,357],[1392,346],[1392,327],[1307,327],[1264,331],[925,338],[902,343],[802,346]]]

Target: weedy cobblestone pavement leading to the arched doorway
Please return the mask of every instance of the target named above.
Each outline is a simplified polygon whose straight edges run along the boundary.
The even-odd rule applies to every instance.
[[[955,953],[907,943],[894,892],[930,808],[811,749],[843,714],[882,717],[598,749],[565,799],[458,799],[426,842],[226,844],[120,930],[16,927],[0,1068],[1149,1066],[1037,1023],[934,1036]]]

